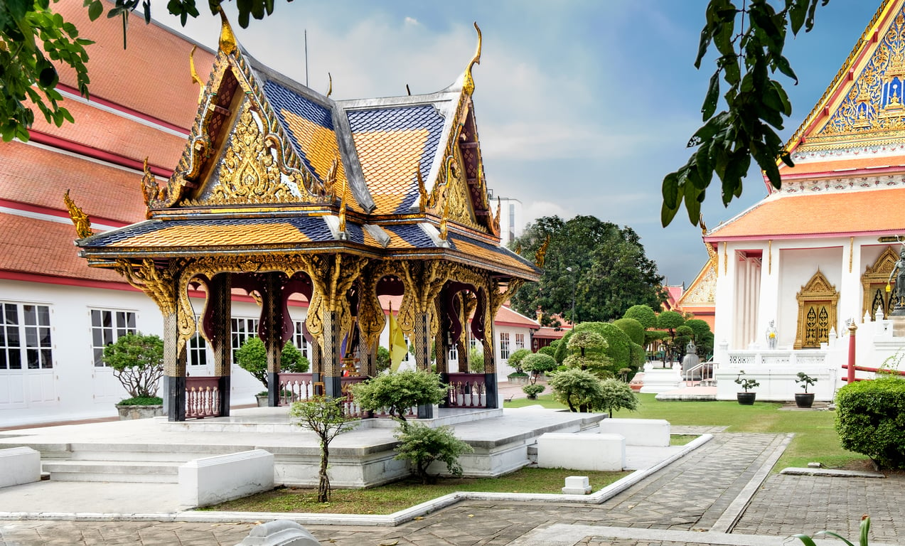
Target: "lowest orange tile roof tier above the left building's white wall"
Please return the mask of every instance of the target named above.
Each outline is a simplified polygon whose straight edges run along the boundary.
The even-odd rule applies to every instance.
[[[0,225],[19,235],[0,237],[0,271],[123,283],[119,273],[88,267],[78,256],[72,244],[78,235],[71,224],[0,213]]]

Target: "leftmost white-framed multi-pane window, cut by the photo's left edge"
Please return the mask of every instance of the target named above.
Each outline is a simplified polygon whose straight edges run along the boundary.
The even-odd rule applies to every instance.
[[[53,369],[51,311],[39,303],[0,302],[0,370]]]

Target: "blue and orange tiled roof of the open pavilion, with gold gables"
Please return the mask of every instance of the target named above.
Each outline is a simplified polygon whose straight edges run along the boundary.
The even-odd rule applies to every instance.
[[[255,62],[230,36],[224,26],[166,190],[144,187],[152,221],[81,240],[91,263],[243,248],[417,251],[538,276],[500,247],[488,214],[470,73],[428,95],[338,102]]]

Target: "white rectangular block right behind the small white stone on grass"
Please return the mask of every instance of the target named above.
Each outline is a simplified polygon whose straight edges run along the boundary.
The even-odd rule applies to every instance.
[[[540,468],[620,471],[624,465],[625,438],[620,435],[548,432],[538,437]]]

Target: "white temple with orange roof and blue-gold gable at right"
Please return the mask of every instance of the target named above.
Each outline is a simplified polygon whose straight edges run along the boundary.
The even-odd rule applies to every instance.
[[[763,201],[705,232],[700,292],[712,292],[722,365],[834,378],[848,324],[887,319],[905,290],[888,287],[905,248],[903,44],[905,3],[886,0],[789,140],[782,186],[765,177]],[[782,355],[761,354],[771,332]]]

